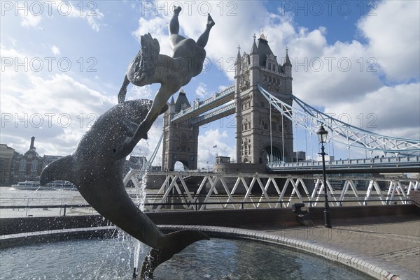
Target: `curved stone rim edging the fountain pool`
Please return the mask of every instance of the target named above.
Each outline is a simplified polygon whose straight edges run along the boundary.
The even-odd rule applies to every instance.
[[[304,253],[321,256],[328,260],[342,263],[347,267],[363,272],[375,279],[402,280],[398,274],[384,269],[384,265],[372,263],[366,260],[364,256],[354,256],[354,254],[343,253],[328,249],[325,246],[318,246],[302,240],[272,235],[258,230],[247,230],[242,228],[228,228],[221,226],[186,226],[186,225],[158,225],[158,228],[164,231],[173,231],[181,229],[200,230],[210,237],[225,237],[242,240],[256,240],[259,242],[277,244],[288,249],[302,251]],[[116,236],[118,228],[116,226],[99,226],[91,228],[67,228],[61,230],[45,230],[31,233],[17,233],[0,236],[0,249],[11,246],[22,246],[25,244],[34,244],[34,242],[54,242],[59,240],[69,240],[81,237],[112,237]],[[387,265],[388,267],[388,265]]]

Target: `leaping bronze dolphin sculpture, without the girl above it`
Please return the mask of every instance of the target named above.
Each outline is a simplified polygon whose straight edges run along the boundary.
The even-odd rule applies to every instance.
[[[193,242],[209,240],[207,235],[198,230],[162,233],[125,191],[123,167],[125,157],[132,149],[122,147],[137,132],[151,105],[152,101],[149,100],[131,100],[106,111],[83,135],[73,154],[50,163],[41,173],[40,180],[41,184],[58,179],[72,182],[99,214],[151,246],[141,277],[151,277],[160,263],[169,260]],[[162,112],[166,109],[167,106]],[[147,135],[147,131],[144,134]],[[150,261],[151,257],[153,261]]]

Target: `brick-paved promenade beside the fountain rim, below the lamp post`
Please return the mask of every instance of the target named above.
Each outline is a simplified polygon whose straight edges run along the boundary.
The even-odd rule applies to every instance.
[[[302,240],[365,260],[384,268],[400,279],[420,279],[420,219],[400,217],[378,223],[342,223],[332,229],[323,226],[270,228],[271,235]]]

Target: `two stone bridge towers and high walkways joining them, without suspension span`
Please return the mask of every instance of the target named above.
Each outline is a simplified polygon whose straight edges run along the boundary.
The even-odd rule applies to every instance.
[[[257,87],[269,89],[281,101],[292,104],[292,65],[287,50],[283,63],[277,61],[262,34],[254,36],[251,52],[238,48],[235,84],[204,101],[190,104],[181,91],[172,98],[164,116],[162,169],[174,170],[176,161],[189,170],[197,169],[200,125],[235,115],[238,163],[267,164],[293,161],[293,124],[281,112],[271,110]]]

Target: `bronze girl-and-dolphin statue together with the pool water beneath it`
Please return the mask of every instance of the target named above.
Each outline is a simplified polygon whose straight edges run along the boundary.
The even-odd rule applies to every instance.
[[[195,42],[178,34],[180,11],[181,8],[175,8],[169,24],[173,57],[159,54],[158,40],[153,39],[151,34],[141,36],[141,50],[125,75],[118,94],[118,105],[95,121],[73,154],[50,163],[41,174],[41,184],[66,180],[76,185],[83,198],[99,214],[135,240],[70,240],[3,249],[0,251],[0,279],[279,279],[283,276],[290,279],[290,275],[294,279],[325,278],[325,275],[331,279],[360,277],[358,272],[337,267],[337,264],[328,263],[322,258],[280,250],[274,245],[218,239],[204,242],[201,240],[209,240],[209,237],[195,229],[165,234],[128,196],[123,185],[125,157],[139,140],[147,138],[155,119],[167,110],[170,96],[202,71],[204,46],[214,21],[209,15],[204,33]],[[192,58],[197,64],[191,65]],[[179,68],[179,65],[185,67]],[[160,83],[161,87],[153,102],[125,101],[130,82],[138,86]],[[151,251],[142,254],[140,242],[150,246]],[[131,265],[132,254],[134,261]],[[141,257],[144,263],[138,275],[137,265]],[[270,262],[266,263],[265,260]],[[158,265],[161,265],[161,269],[154,273]]]

